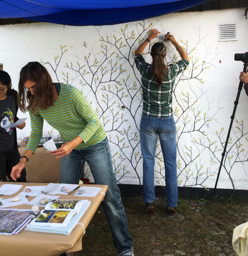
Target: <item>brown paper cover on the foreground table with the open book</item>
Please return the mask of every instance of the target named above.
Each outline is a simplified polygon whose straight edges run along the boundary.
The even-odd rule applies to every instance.
[[[0,182],[0,186],[6,184],[6,182]],[[44,186],[48,183],[22,183],[22,182],[8,182],[8,184],[19,184],[23,187],[15,194],[11,196],[1,196],[6,198],[11,198],[17,196],[26,186]],[[79,223],[71,231],[69,236],[60,234],[49,234],[32,232],[22,229],[18,234],[14,235],[0,235],[0,255],[8,256],[58,256],[63,252],[76,252],[82,250],[82,237],[84,235],[84,228],[87,228],[89,222],[91,221],[94,213],[96,212],[98,206],[104,198],[104,195],[108,189],[107,185],[80,185],[81,187],[101,187],[102,190],[95,197],[86,196],[73,196],[77,191],[74,191],[70,195],[59,195],[58,199],[74,199],[83,200],[88,199],[91,201],[89,208],[86,210]],[[79,188],[80,189],[80,188]],[[27,197],[28,201],[34,199],[35,196]],[[45,195],[44,195],[45,197]],[[32,205],[21,204],[13,207],[6,207],[4,209],[31,209]],[[45,207],[40,207],[44,209]]]

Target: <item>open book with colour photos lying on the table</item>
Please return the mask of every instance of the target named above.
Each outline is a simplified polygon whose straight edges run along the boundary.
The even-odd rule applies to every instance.
[[[79,212],[88,200],[56,200],[46,205],[45,210],[31,221],[31,225],[65,227],[72,216]]]

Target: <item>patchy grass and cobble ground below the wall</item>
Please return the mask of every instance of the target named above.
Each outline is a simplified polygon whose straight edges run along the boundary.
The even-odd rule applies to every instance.
[[[154,213],[145,212],[142,198],[122,197],[134,255],[235,256],[233,229],[248,221],[247,199],[178,199],[176,214],[168,214],[159,198]],[[80,256],[117,256],[109,225],[100,206],[83,237]]]

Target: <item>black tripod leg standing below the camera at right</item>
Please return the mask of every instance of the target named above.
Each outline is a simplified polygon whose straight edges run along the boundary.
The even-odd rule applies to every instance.
[[[246,73],[246,70],[247,70],[247,63],[244,63],[244,70],[243,70],[243,72]],[[240,81],[239,82],[239,86],[238,86],[237,97],[236,97],[236,100],[234,101],[234,109],[233,109],[232,116],[231,116],[231,123],[230,123],[229,130],[228,130],[228,133],[227,133],[227,139],[226,139],[225,147],[223,149],[222,158],[221,158],[221,164],[220,164],[219,172],[218,172],[217,179],[216,179],[216,182],[215,182],[213,194],[215,194],[217,183],[218,183],[218,180],[219,180],[219,176],[220,176],[220,172],[221,172],[221,167],[222,167],[224,156],[226,154],[226,148],[227,148],[227,144],[228,144],[228,140],[229,140],[229,136],[230,136],[230,132],[231,132],[231,128],[232,128],[232,123],[233,123],[233,119],[234,119],[234,115],[235,115],[236,108],[237,108],[237,105],[238,105],[238,99],[239,99],[239,95],[240,95],[240,92],[242,90],[242,87],[243,87],[243,83]]]

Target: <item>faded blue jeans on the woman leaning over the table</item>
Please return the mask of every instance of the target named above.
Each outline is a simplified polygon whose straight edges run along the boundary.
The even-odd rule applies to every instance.
[[[113,172],[107,137],[96,145],[73,149],[68,156],[62,157],[60,182],[78,184],[85,161],[90,167],[95,184],[109,186],[102,207],[112,231],[114,245],[120,255],[131,255],[132,237],[128,232],[126,214]]]

